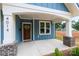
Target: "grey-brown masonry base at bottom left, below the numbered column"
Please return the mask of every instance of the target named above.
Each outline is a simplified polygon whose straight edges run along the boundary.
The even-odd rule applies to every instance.
[[[16,56],[17,55],[17,45],[8,44],[0,46],[0,56]]]

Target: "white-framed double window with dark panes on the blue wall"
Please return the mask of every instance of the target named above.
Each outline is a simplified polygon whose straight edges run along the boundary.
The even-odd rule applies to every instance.
[[[40,21],[39,23],[39,34],[51,34],[51,22],[50,21]]]

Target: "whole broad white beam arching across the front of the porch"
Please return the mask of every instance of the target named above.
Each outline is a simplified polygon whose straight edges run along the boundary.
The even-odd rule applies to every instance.
[[[25,6],[24,6],[25,5]],[[57,16],[57,17],[60,17],[62,19],[67,19],[69,20],[70,18],[70,13],[66,13],[66,14],[62,14],[63,12],[60,12],[60,13],[57,13],[56,11],[54,10],[50,10],[48,8],[44,8],[43,10],[42,7],[36,7],[36,6],[32,6],[32,5],[28,5],[28,4],[10,4],[10,3],[6,3],[6,4],[3,4],[2,5],[2,10],[3,10],[3,14],[4,15],[12,15],[12,14],[26,14],[26,13],[29,13],[29,12],[37,12],[37,13],[46,13],[46,14],[50,14],[52,16]],[[48,11],[46,10],[48,9]],[[18,13],[19,12],[19,13]]]

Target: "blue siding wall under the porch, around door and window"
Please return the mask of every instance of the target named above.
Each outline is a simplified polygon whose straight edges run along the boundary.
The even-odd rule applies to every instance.
[[[20,19],[16,17],[16,41],[22,42],[22,22],[32,23],[32,40],[33,40],[33,20]],[[55,38],[55,24],[51,22],[51,35],[39,35],[39,20],[34,20],[34,40],[44,40]]]

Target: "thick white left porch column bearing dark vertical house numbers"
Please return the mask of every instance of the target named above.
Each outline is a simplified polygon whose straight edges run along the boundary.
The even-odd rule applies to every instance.
[[[3,44],[14,43],[15,41],[15,20],[13,15],[4,15],[4,40]]]

